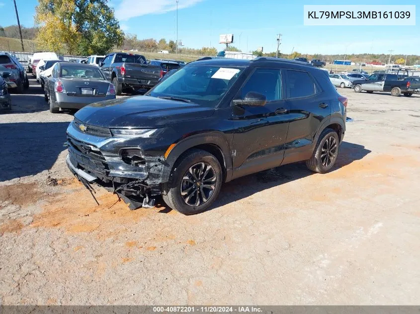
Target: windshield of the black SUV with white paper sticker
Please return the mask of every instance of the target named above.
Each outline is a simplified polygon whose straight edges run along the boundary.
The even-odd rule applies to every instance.
[[[241,72],[242,68],[191,64],[163,80],[148,95],[181,98],[215,107]]]

